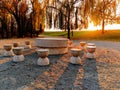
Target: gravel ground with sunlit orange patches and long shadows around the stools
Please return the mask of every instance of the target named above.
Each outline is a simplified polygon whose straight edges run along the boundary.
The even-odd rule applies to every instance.
[[[15,40],[2,40],[0,47]],[[34,44],[34,39],[16,41],[24,44],[25,40]],[[74,44],[79,42],[75,40]],[[44,67],[37,66],[38,55],[34,50],[26,51],[25,61],[20,63],[1,54],[0,90],[120,90],[120,43],[87,42],[96,44],[97,58],[82,58],[81,65],[69,63],[70,53],[50,55],[50,65]]]

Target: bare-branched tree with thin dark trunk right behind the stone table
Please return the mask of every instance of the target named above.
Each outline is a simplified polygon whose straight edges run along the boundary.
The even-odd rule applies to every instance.
[[[65,24],[67,24],[67,31],[68,31],[68,39],[70,39],[70,29],[72,25],[72,19],[74,17],[74,14],[76,13],[76,16],[78,14],[78,11],[75,9],[79,8],[81,6],[75,6],[76,3],[79,3],[82,0],[55,0],[57,7],[55,6],[48,6],[52,10],[55,10],[59,13],[60,18],[64,18]],[[62,25],[63,19],[60,20],[60,23]],[[61,26],[60,25],[60,26]],[[66,26],[66,25],[65,25]],[[76,27],[77,27],[77,18],[76,18]]]

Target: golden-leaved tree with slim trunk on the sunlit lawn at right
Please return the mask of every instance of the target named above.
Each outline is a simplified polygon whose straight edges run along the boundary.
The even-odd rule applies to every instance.
[[[116,0],[100,0],[94,5],[91,10],[90,18],[94,25],[102,24],[102,34],[104,34],[104,27],[107,23],[112,23],[116,16]]]

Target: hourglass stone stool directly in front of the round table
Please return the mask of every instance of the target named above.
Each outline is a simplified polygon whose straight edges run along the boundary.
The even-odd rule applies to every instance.
[[[49,50],[48,49],[38,49],[37,53],[39,55],[37,64],[41,65],[41,66],[49,65],[49,59],[47,57],[49,54]]]

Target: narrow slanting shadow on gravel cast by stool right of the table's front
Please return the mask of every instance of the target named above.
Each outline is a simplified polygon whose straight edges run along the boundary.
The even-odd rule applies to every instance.
[[[59,80],[56,82],[54,89],[55,90],[75,90],[74,82],[76,80],[78,70],[81,67],[82,65],[73,65],[68,63],[66,70],[60,76]]]

